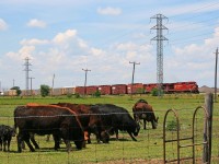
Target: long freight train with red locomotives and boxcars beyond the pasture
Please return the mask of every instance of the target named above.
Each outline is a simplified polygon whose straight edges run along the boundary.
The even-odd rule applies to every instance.
[[[50,95],[93,95],[99,92],[101,95],[122,95],[122,94],[149,94],[158,89],[157,83],[134,83],[134,84],[113,84],[113,85],[89,85],[89,86],[69,86],[50,89]],[[165,94],[172,93],[199,93],[198,85],[194,81],[163,83],[162,91]],[[8,91],[4,95],[15,95],[15,92]],[[22,91],[22,95],[41,95],[39,90]]]

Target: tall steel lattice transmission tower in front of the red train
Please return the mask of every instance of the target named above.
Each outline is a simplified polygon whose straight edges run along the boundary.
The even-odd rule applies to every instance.
[[[157,25],[151,27],[151,30],[157,30],[157,36],[151,38],[151,40],[157,40],[157,83],[158,95],[160,96],[163,87],[163,40],[168,40],[168,38],[163,36],[163,30],[168,28],[162,24],[162,21],[164,19],[168,20],[168,17],[162,14],[157,14],[151,19],[157,20]]]

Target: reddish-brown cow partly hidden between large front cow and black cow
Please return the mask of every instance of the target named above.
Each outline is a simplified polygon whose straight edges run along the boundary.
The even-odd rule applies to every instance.
[[[92,105],[71,103],[58,103],[54,105],[68,107],[77,113],[84,131],[87,131],[85,137],[88,139],[88,143],[91,143],[91,132],[96,136],[97,142],[102,141],[103,143],[108,143],[110,134],[106,132],[106,129],[103,126],[102,119],[99,115],[99,110],[95,107],[93,107]]]

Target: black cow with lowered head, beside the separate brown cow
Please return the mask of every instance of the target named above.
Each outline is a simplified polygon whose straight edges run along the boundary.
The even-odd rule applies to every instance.
[[[118,130],[127,131],[134,141],[138,136],[140,126],[134,120],[130,114],[123,107],[113,104],[97,104],[95,105],[101,112],[102,120],[107,127],[111,134],[116,133],[118,140]],[[135,137],[134,137],[135,136]]]

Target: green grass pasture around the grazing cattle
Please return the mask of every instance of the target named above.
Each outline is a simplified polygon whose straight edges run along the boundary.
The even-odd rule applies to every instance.
[[[0,97],[0,124],[13,126],[13,110],[18,105],[27,103],[51,104],[59,102],[69,102],[77,104],[96,104],[111,103],[129,110],[132,116],[132,105],[139,99],[145,98],[153,106],[155,116],[159,116],[158,129],[141,130],[137,137],[137,142],[132,141],[126,132],[119,132],[119,141],[115,140],[115,136],[108,144],[97,144],[94,136],[92,136],[92,144],[77,151],[72,143],[72,152],[67,153],[65,144],[61,144],[59,151],[55,151],[54,141],[46,141],[46,137],[36,137],[41,149],[36,152],[30,152],[26,148],[22,153],[18,153],[16,139],[12,139],[11,152],[0,152],[1,164],[30,164],[30,163],[162,163],[163,161],[163,119],[168,109],[176,109],[180,118],[181,138],[192,136],[192,118],[197,106],[203,106],[205,95],[200,94],[182,94],[182,95],[164,95],[162,98],[150,95],[135,95],[132,98],[127,95],[119,96],[102,96],[102,97]],[[203,110],[198,112],[195,119],[195,140],[203,141]],[[173,114],[168,116],[166,125],[174,121]],[[219,163],[219,103],[214,103],[214,133],[212,133],[212,163]],[[166,131],[166,139],[176,139],[175,131]],[[191,140],[182,141],[181,144],[191,144]],[[197,161],[201,157],[203,145],[196,147]],[[166,143],[168,160],[176,159],[176,142]],[[192,155],[192,148],[181,149],[181,156],[187,157]],[[185,162],[186,163],[186,162]],[[187,162],[189,163],[189,162]]]

